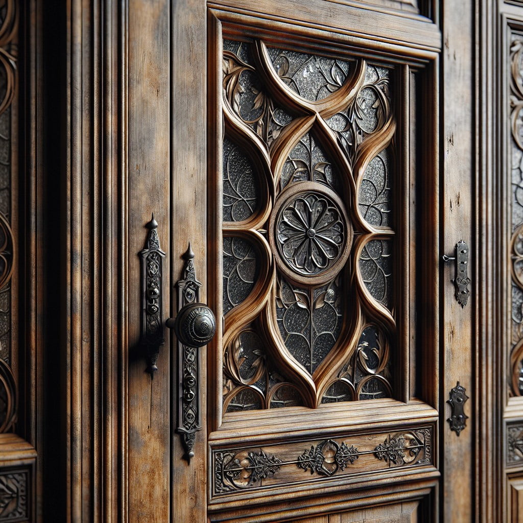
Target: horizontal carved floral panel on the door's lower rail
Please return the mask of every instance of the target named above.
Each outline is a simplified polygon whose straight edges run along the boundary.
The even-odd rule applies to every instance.
[[[244,449],[213,449],[213,496],[246,488],[316,480],[337,475],[433,464],[433,427],[343,439],[298,441]]]

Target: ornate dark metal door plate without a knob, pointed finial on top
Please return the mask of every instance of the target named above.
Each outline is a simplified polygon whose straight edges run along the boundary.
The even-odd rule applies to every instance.
[[[145,225],[149,229],[145,247],[140,251],[142,274],[141,344],[147,350],[147,372],[154,378],[158,370],[158,354],[164,344],[162,274],[165,253],[160,248],[158,222],[151,216]]]

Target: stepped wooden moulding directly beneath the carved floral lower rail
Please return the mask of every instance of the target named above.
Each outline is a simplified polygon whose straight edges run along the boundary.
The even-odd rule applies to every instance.
[[[318,513],[321,514],[347,511],[369,504],[385,505],[399,500],[421,499],[425,496],[437,494],[440,474],[436,470],[416,472],[407,471],[405,474],[397,474],[395,489],[391,492],[389,477],[380,477],[378,480],[358,479],[358,486],[354,488],[351,484],[339,485],[337,492],[320,490],[316,496],[282,497],[276,503],[272,503],[272,496],[257,499],[246,507],[238,510],[231,504],[212,504],[209,506],[210,521],[223,521],[227,523],[272,523],[275,514],[278,521],[296,521],[296,517],[306,517]],[[327,495],[328,492],[328,495]],[[271,503],[269,503],[269,501]],[[430,505],[430,503],[428,503]],[[437,507],[427,507],[427,515],[436,516]],[[246,519],[248,518],[248,519]],[[289,519],[287,519],[289,518]],[[437,521],[436,518],[430,519]]]

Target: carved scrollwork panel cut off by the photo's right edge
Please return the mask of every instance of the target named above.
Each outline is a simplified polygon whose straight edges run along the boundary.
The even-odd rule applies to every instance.
[[[510,128],[512,135],[512,393],[523,395],[523,39],[514,35],[510,45]]]

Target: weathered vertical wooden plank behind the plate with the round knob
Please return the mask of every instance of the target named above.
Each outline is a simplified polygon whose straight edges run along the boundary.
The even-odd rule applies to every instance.
[[[196,276],[202,283],[200,300],[207,303],[207,243],[214,247],[215,238],[207,238],[207,23],[206,2],[177,0],[172,3],[171,35],[171,296],[170,315],[176,314],[173,285],[182,277],[181,257],[191,242],[195,253]],[[220,327],[219,327],[220,328]],[[173,336],[174,337],[174,336]],[[176,347],[176,340],[172,346]],[[207,348],[198,349],[200,357],[200,416],[202,430],[196,433],[195,457],[183,459],[184,448],[174,430],[181,426],[176,419],[176,404],[181,393],[178,361],[173,361],[171,424],[171,520],[197,523],[207,520]],[[173,352],[176,354],[176,351]]]

